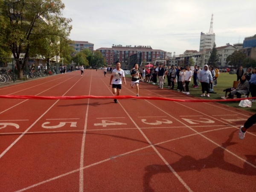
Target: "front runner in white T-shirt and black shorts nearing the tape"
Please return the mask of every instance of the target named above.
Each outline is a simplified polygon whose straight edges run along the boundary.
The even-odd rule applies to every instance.
[[[109,83],[109,86],[112,85],[112,92],[113,94],[116,94],[116,96],[119,96],[121,93],[122,79],[126,84],[125,72],[120,68],[120,66],[121,66],[120,61],[116,61],[116,69],[112,71],[112,75]],[[117,103],[117,99],[114,99],[114,102]]]

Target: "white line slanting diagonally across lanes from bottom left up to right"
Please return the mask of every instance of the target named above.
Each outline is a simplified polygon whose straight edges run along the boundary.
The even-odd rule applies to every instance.
[[[232,127],[230,127],[230,128],[232,128]],[[136,128],[136,129],[137,129],[137,128]],[[221,128],[221,129],[227,129],[227,128]],[[220,130],[220,129],[215,129],[215,130],[210,130],[210,131],[218,131],[218,130]],[[201,132],[201,134],[206,133],[206,132],[209,132],[209,131]],[[164,144],[164,143],[169,143],[169,142],[176,141],[176,140],[180,140],[180,139],[184,139],[184,138],[187,138],[187,137],[192,137],[192,136],[195,136],[195,135],[198,135],[198,134],[197,134],[197,133],[194,133],[194,134],[190,134],[190,135],[178,137],[178,138],[175,138],[175,139],[172,139],[172,140],[163,141],[163,142],[154,144],[154,146],[161,145],[161,144]],[[113,157],[111,157],[111,158],[108,158],[108,159],[105,159],[105,160],[102,160],[102,161],[99,161],[99,162],[96,162],[96,163],[93,163],[93,164],[84,166],[83,169],[87,169],[87,168],[90,168],[90,167],[92,167],[92,166],[96,166],[96,165],[99,165],[99,164],[101,164],[101,163],[105,163],[105,162],[107,162],[107,161],[109,161],[109,160],[113,160],[113,159],[118,158],[118,157],[124,157],[124,156],[126,156],[127,154],[131,154],[131,153],[134,153],[134,152],[137,152],[137,151],[141,151],[141,150],[143,150],[143,149],[150,148],[150,147],[151,147],[151,146],[148,145],[148,146],[143,147],[143,148],[138,148],[138,149],[135,149],[135,150],[133,150],[133,151],[128,151],[128,152],[126,152],[126,153],[119,154],[119,155],[113,156]],[[67,173],[58,175],[58,176],[56,176],[56,177],[52,177],[52,178],[50,178],[50,179],[41,181],[40,183],[36,183],[36,184],[34,184],[34,185],[31,185],[31,186],[28,186],[28,187],[26,187],[26,188],[20,189],[20,190],[18,190],[18,191],[16,191],[16,192],[22,192],[22,191],[25,191],[25,190],[28,190],[28,189],[32,189],[32,188],[34,188],[34,187],[36,187],[36,186],[42,185],[42,184],[44,184],[44,183],[48,183],[48,182],[50,182],[50,181],[52,181],[52,180],[56,180],[56,179],[58,179],[58,178],[65,177],[65,176],[67,176],[67,175],[70,175],[70,174],[73,174],[73,173],[76,173],[76,172],[79,172],[79,171],[80,171],[80,169],[75,169],[75,170],[73,170],[73,171],[71,171],[71,172],[67,172]]]

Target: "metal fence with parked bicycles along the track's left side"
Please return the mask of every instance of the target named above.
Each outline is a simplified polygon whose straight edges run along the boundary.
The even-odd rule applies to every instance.
[[[19,69],[23,65],[23,70]],[[75,70],[74,64],[60,64],[41,59],[0,58],[0,83],[52,76],[73,70]]]

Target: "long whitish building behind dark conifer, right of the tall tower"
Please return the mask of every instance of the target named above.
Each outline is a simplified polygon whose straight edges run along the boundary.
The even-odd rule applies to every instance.
[[[222,46],[222,47],[216,47],[217,49],[217,66],[225,66],[227,65],[227,57],[229,55],[231,55],[233,52],[235,52],[236,47],[227,44],[226,46]],[[207,49],[204,51],[204,55],[203,55],[203,59],[204,59],[204,64],[208,63],[208,60],[210,58],[210,55],[212,53],[212,49]]]

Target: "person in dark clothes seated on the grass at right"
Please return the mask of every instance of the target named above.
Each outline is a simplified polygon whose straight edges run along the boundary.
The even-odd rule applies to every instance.
[[[249,82],[246,79],[245,75],[241,76],[241,81],[239,82],[236,89],[233,88],[227,88],[223,91],[229,92],[228,96],[222,97],[223,99],[233,99],[234,95],[237,96],[237,98],[241,98],[241,95],[247,95],[249,91]]]

